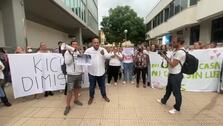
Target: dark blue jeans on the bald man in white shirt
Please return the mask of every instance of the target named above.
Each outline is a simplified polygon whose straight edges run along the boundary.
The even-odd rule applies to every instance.
[[[89,82],[90,82],[90,87],[89,87],[90,97],[94,98],[96,81],[98,82],[98,86],[100,88],[102,97],[107,97],[106,89],[105,89],[105,74],[102,76],[93,76],[91,74],[88,74],[88,76],[89,76]]]

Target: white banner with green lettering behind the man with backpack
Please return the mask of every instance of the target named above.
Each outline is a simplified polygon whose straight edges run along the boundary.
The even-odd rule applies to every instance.
[[[199,59],[198,71],[193,75],[184,74],[182,90],[186,91],[217,91],[220,85],[220,69],[223,48],[194,50],[190,54]],[[150,52],[151,84],[154,88],[164,88],[167,85],[168,68],[162,68],[163,58]],[[170,55],[170,54],[169,54]],[[164,63],[164,67],[166,62]]]

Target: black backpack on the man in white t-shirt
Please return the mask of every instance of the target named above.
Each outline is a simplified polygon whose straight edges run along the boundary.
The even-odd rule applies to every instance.
[[[183,50],[186,53],[186,59],[184,64],[181,64],[180,62],[180,65],[182,66],[181,73],[189,75],[194,74],[198,69],[199,60],[193,55],[186,52],[184,49],[181,50]]]

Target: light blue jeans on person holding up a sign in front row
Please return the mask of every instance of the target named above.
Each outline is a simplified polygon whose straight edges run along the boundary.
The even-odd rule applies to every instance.
[[[133,63],[123,63],[124,66],[124,81],[132,81]]]

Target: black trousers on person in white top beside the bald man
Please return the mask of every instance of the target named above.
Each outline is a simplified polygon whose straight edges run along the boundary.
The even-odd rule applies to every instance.
[[[120,68],[121,66],[108,67],[108,83],[111,82],[112,77],[114,77],[114,81],[117,82]]]

